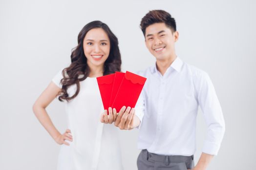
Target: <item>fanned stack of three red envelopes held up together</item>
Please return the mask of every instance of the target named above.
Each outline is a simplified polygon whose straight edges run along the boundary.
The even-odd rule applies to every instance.
[[[135,107],[146,80],[129,71],[97,77],[104,109],[112,107],[119,112],[123,106]]]

